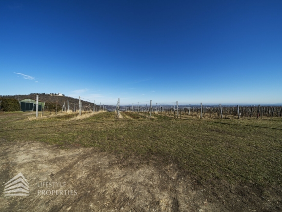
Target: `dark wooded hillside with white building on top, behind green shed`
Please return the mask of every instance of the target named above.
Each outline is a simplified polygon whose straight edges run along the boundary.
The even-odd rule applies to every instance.
[[[16,100],[23,100],[23,99],[34,99],[36,100],[36,94],[28,94],[28,95],[1,95],[0,97],[2,98],[7,98],[7,99],[16,99]],[[68,107],[68,100],[69,100],[69,107],[70,109],[74,109],[74,105],[75,105],[75,109],[78,109],[78,99],[72,98],[72,97],[66,97],[66,96],[59,96],[59,95],[50,95],[50,94],[39,94],[38,95],[38,99],[39,101],[44,101],[46,103],[56,103],[59,105],[63,105],[64,103],[66,103],[66,107]],[[87,102],[87,101],[83,101],[82,102],[82,106],[85,109],[92,109],[93,110],[93,102]],[[98,108],[99,105],[97,106],[95,104],[95,108]]]

